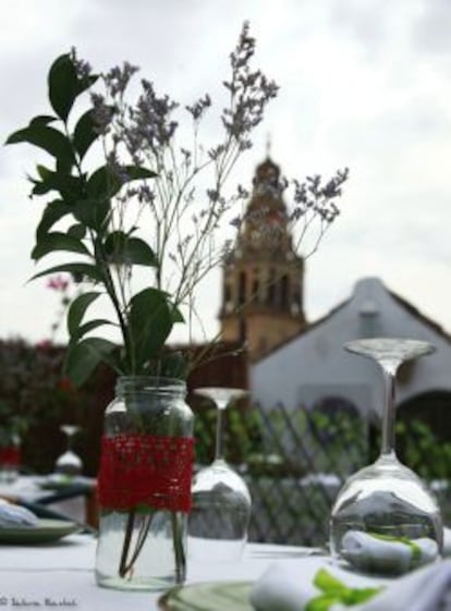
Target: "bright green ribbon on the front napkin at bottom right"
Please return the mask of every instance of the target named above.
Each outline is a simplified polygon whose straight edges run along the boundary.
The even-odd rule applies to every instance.
[[[349,588],[325,569],[320,569],[315,575],[314,585],[324,594],[313,598],[307,603],[305,611],[328,611],[336,602],[352,607],[353,604],[369,600],[383,589],[382,587]]]

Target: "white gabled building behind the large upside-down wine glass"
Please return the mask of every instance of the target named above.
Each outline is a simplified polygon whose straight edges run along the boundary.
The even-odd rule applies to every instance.
[[[451,420],[443,414],[443,407],[451,410],[450,338],[377,278],[359,280],[350,300],[252,365],[253,399],[268,408],[278,403],[287,408],[330,404],[331,408],[351,406],[362,415],[380,415],[382,379],[378,366],[343,350],[345,342],[371,337],[434,344],[437,351],[432,355],[400,368],[397,405],[427,410],[436,426]]]

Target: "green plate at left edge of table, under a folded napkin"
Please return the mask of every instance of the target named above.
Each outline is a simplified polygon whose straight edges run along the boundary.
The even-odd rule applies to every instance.
[[[48,543],[77,530],[80,526],[74,522],[41,518],[36,526],[0,527],[0,543],[22,546]]]

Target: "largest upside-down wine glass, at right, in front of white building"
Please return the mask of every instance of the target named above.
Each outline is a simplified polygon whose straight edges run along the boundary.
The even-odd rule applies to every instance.
[[[404,339],[356,340],[349,352],[378,363],[385,382],[381,450],[378,460],[350,477],[331,511],[332,555],[355,569],[402,574],[441,553],[442,523],[434,496],[394,448],[394,381],[404,362],[430,354],[434,346]]]

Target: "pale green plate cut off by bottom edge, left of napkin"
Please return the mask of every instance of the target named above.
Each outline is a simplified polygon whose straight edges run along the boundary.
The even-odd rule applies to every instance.
[[[159,602],[161,611],[253,611],[249,582],[214,582],[178,586]]]

